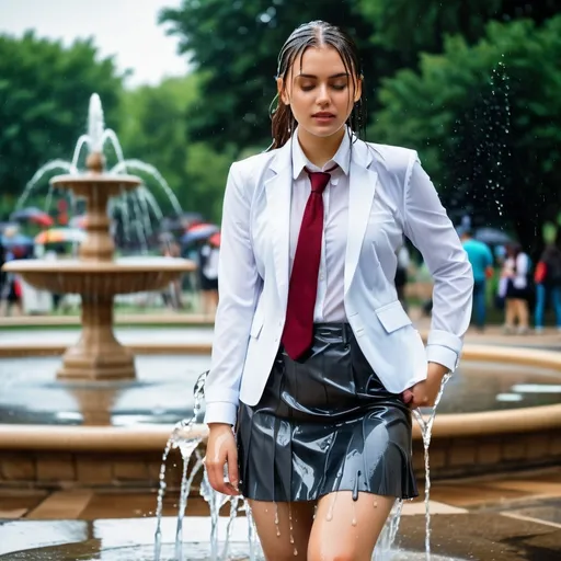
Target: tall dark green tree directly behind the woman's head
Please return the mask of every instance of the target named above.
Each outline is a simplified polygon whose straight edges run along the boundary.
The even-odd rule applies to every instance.
[[[181,39],[181,51],[205,72],[199,104],[188,115],[193,138],[217,149],[224,142],[240,148],[268,146],[268,107],[276,93],[278,51],[288,35],[307,21],[322,19],[344,26],[357,38],[365,76],[374,80],[389,59],[380,56],[380,46],[368,42],[373,27],[356,4],[356,0],[184,0],[181,8],[164,10],[160,21],[171,26],[171,33]],[[367,81],[367,96],[375,87]]]

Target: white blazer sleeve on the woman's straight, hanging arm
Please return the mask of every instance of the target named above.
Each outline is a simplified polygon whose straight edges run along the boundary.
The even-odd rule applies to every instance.
[[[239,389],[257,299],[259,273],[250,238],[251,199],[231,165],[226,185],[218,264],[218,308],[210,370],[205,383],[205,423],[236,424]]]

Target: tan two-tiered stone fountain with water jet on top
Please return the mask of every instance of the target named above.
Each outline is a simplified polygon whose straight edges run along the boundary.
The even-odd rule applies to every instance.
[[[21,275],[38,289],[81,296],[82,332],[78,343],[64,354],[58,378],[133,379],[136,376],[134,355],[113,332],[115,295],[163,289],[182,273],[193,271],[195,264],[172,257],[114,257],[115,245],[107,211],[110,198],[139,187],[141,180],[135,175],[104,171],[103,112],[95,94],[90,101],[88,128],[85,142],[81,142],[90,148],[87,171],[57,175],[50,181],[53,187],[70,190],[75,196],[85,199],[87,238],[80,245],[79,259],[12,261],[3,268]]]

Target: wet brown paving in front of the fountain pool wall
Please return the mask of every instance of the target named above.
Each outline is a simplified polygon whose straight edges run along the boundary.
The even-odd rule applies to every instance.
[[[438,481],[433,485],[431,497],[434,553],[480,561],[561,559],[561,468]],[[163,502],[163,515],[169,517],[164,524],[168,540],[174,531],[178,500],[178,494],[172,492]],[[114,542],[117,535],[128,540],[127,543],[151,543],[156,528],[154,507],[156,490],[0,490],[0,519],[5,520],[3,525],[0,520],[0,556],[20,548],[81,541],[93,534],[92,527],[80,526],[85,523],[95,524],[95,537],[103,539],[104,545]],[[220,514],[227,516],[228,508],[224,507]],[[208,514],[208,507],[201,499],[190,500],[187,516],[195,518],[186,518],[187,541],[207,539],[207,525],[203,529],[203,520],[196,517],[207,517]],[[422,551],[425,536],[423,495],[408,502],[403,514],[399,543],[404,549]],[[236,534],[240,535],[240,531],[244,530],[238,528]]]

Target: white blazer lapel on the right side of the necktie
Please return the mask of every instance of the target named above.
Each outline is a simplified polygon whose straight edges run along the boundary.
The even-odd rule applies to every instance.
[[[378,174],[368,169],[371,153],[367,145],[357,140],[352,148],[348,193],[348,236],[345,252],[345,295],[358,264],[360,248],[363,245],[366,227],[370,218],[370,210],[376,192]]]

